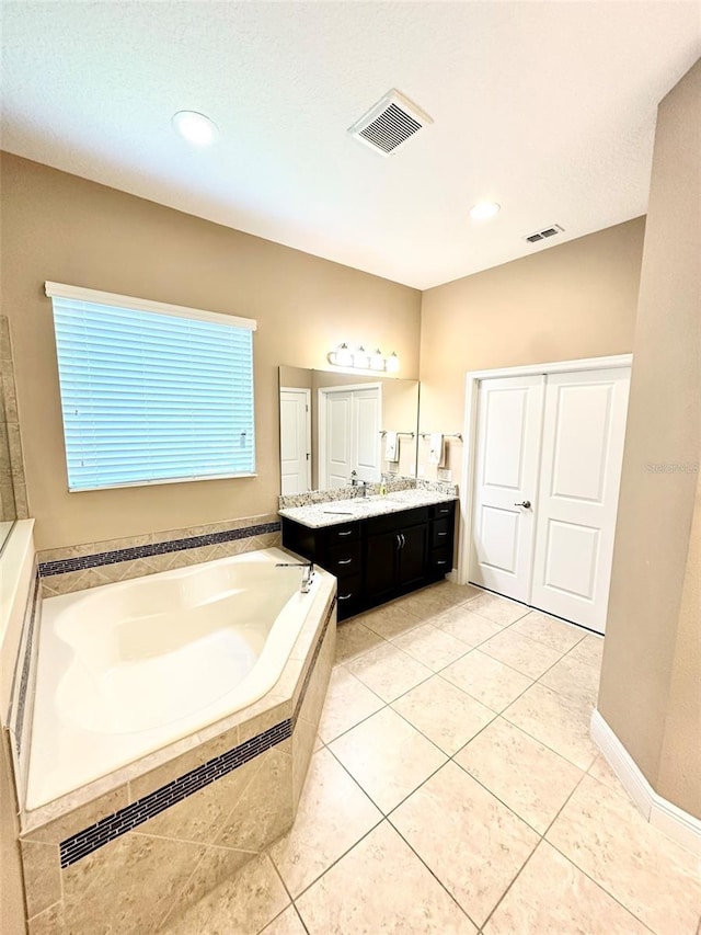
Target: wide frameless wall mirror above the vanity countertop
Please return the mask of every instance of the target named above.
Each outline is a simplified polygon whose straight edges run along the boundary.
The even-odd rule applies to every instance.
[[[279,399],[281,493],[416,476],[418,380],[280,367]]]

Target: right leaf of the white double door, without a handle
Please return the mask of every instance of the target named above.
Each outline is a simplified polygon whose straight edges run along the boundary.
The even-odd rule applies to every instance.
[[[548,377],[529,603],[604,632],[630,368]],[[504,592],[506,593],[506,592]]]

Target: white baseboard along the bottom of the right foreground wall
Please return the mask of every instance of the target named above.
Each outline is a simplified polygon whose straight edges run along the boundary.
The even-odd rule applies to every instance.
[[[591,739],[643,818],[682,847],[701,854],[701,820],[657,795],[596,708],[591,714],[590,730]]]

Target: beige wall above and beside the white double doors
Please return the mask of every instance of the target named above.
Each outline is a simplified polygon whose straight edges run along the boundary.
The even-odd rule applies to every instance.
[[[422,432],[462,431],[468,370],[630,352],[643,235],[636,218],[424,293]],[[453,481],[461,465],[451,442]]]

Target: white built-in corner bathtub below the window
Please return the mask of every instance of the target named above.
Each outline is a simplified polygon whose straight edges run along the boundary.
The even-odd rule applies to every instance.
[[[43,602],[28,810],[273,688],[319,586],[264,549]],[[323,574],[323,572],[321,573]]]

